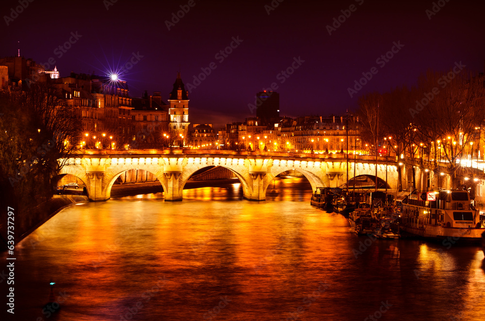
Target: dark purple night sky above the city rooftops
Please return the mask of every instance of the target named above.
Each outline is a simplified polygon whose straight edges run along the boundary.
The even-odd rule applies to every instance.
[[[413,85],[427,68],[461,61],[483,72],[484,2],[435,1],[435,14],[433,1],[33,0],[16,16],[19,1],[4,0],[0,57],[16,55],[20,41],[22,56],[55,60],[61,77],[123,68],[131,96],[160,91],[165,101],[180,70],[192,123],[254,116],[248,104],[272,84],[281,115],[341,114],[363,94]],[[173,23],[181,5],[189,10]],[[391,59],[379,59],[391,49]],[[377,73],[351,97],[348,88],[372,67]],[[210,74],[199,77],[201,68]],[[287,68],[292,74],[281,74]]]

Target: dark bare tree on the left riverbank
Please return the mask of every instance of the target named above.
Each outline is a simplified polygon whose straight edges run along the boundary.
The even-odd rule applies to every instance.
[[[79,121],[46,83],[0,91],[1,197],[20,210],[52,196],[54,178],[78,148]],[[3,204],[3,202],[2,202]]]

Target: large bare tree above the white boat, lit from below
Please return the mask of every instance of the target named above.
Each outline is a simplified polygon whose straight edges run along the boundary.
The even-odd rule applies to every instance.
[[[466,70],[428,71],[418,81],[416,97],[414,123],[420,139],[433,143],[435,155],[443,154],[453,171],[467,144],[477,139],[476,128],[484,124],[484,79]]]

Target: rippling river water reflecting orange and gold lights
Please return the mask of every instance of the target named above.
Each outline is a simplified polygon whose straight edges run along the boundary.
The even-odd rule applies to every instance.
[[[310,196],[286,178],[259,203],[235,184],[64,209],[16,246],[12,320],[485,320],[479,247],[357,237]]]

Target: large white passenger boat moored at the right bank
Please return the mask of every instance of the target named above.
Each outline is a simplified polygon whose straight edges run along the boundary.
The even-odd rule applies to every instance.
[[[480,213],[472,207],[468,191],[433,192],[435,201],[423,201],[422,193],[409,195],[402,205],[401,228],[405,232],[435,240],[480,243],[485,231]],[[432,195],[431,195],[432,196]]]

